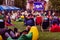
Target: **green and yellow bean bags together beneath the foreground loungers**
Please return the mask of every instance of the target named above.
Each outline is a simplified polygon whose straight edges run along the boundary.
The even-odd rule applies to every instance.
[[[29,28],[29,27],[28,27]],[[25,31],[25,32],[24,32]],[[17,38],[17,40],[38,40],[38,30],[37,27],[33,26],[31,27],[30,31],[28,33],[27,30],[24,30],[22,34]],[[37,32],[37,33],[36,33]],[[7,40],[13,40],[10,36]]]

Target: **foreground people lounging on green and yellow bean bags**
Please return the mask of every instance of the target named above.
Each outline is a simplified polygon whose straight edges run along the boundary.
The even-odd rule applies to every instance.
[[[17,28],[14,28],[14,31],[8,28],[3,28],[1,30],[1,40],[38,40],[39,36],[37,27],[35,26],[27,26],[22,32],[18,32]]]

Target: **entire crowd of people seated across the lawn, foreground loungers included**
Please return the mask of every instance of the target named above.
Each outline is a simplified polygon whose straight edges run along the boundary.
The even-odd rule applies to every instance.
[[[22,34],[28,34],[31,26],[39,25],[41,31],[48,29],[50,32],[60,32],[60,18],[51,11],[11,11],[2,14],[0,12],[0,34],[6,40],[8,37],[17,39]],[[15,26],[11,21],[23,19],[24,25],[27,26],[23,32],[18,32],[17,28],[8,29],[7,26]],[[18,20],[19,21],[19,20]],[[6,38],[5,38],[6,37]]]

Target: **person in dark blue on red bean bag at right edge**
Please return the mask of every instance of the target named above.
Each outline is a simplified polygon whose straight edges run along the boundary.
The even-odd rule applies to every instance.
[[[54,17],[54,19],[51,21],[51,26],[49,28],[50,32],[60,32],[60,20],[57,17]]]

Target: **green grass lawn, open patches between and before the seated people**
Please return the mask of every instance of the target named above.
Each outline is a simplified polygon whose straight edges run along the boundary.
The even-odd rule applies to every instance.
[[[12,22],[12,23],[15,24],[15,27],[18,28],[20,32],[26,28],[26,26],[24,26],[24,23],[22,22]],[[37,27],[39,30],[39,40],[60,40],[60,33],[41,32],[40,27],[39,26]],[[13,29],[14,27],[9,28]]]

